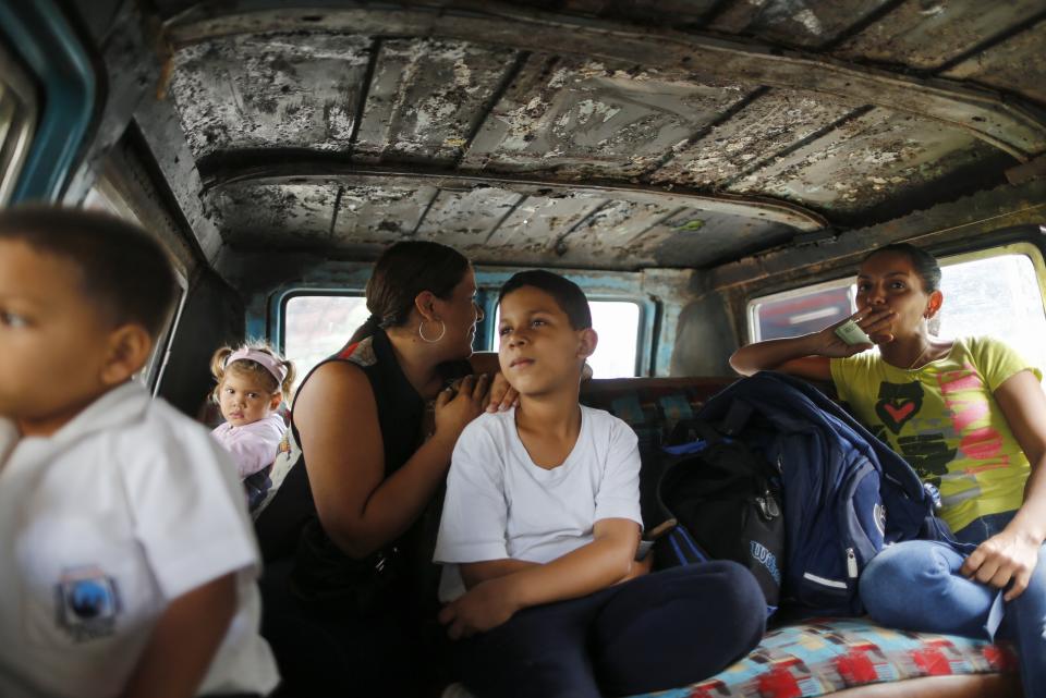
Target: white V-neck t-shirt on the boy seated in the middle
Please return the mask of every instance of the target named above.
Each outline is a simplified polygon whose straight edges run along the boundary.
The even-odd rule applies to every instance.
[[[629,426],[581,406],[581,431],[552,469],[531,460],[515,409],[483,414],[458,439],[435,561],[443,564],[440,601],[465,592],[459,563],[525,560],[547,563],[593,541],[604,518],[640,516],[640,451]]]

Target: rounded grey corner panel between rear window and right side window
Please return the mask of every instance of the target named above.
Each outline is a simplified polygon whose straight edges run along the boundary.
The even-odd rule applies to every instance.
[[[679,314],[672,376],[732,376],[730,355],[738,348],[729,303],[719,293],[708,293],[688,304]]]

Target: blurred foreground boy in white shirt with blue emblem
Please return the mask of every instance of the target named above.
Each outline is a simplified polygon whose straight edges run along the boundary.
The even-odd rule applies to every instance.
[[[235,470],[151,400],[175,293],[101,213],[0,212],[0,696],[265,695],[259,559]]]

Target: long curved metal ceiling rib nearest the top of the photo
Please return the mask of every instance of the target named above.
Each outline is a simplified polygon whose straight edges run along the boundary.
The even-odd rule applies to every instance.
[[[427,36],[475,44],[631,62],[722,81],[811,90],[902,110],[969,131],[1019,160],[1046,151],[1046,125],[1029,106],[940,78],[915,78],[847,64],[815,53],[773,49],[719,37],[603,20],[564,16],[502,3],[459,8],[324,10],[325,32],[369,36]],[[463,10],[460,5],[474,8]],[[175,46],[264,32],[316,30],[316,9],[263,10],[179,22],[168,27]]]

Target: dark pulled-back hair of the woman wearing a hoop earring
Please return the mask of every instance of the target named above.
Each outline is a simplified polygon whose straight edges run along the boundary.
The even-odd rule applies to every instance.
[[[356,328],[349,344],[370,336],[378,328],[402,326],[423,291],[450,298],[466,271],[469,258],[453,247],[424,240],[396,243],[374,265],[366,293],[370,317]]]

